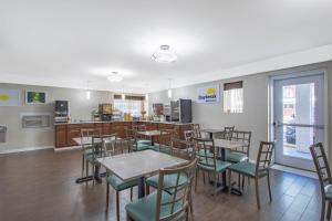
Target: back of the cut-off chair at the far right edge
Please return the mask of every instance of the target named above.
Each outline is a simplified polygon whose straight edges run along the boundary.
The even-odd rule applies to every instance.
[[[329,160],[323,144],[314,144],[310,147],[311,156],[320,180],[322,196],[325,196],[324,188],[332,183]]]

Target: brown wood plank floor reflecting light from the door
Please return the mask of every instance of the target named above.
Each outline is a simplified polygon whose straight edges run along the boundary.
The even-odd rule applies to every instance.
[[[105,182],[76,185],[74,180],[80,177],[80,171],[79,150],[0,156],[0,220],[115,220],[115,192],[111,192],[112,201],[106,213]],[[267,183],[261,180],[260,211],[256,207],[252,186],[253,182],[246,188],[242,197],[219,193],[214,198],[210,187],[203,186],[200,177],[198,191],[194,194],[191,220],[319,220],[321,203],[317,180],[272,171],[273,202],[269,203]],[[128,191],[123,191],[121,220],[126,220],[124,206],[128,201]]]

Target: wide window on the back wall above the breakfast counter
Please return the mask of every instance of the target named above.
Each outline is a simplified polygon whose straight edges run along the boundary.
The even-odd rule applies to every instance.
[[[125,99],[122,99],[121,95],[114,95],[114,109],[139,117],[144,110],[144,97],[125,96]]]

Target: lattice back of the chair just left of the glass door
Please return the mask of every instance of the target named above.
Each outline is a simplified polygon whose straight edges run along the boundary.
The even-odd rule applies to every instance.
[[[256,162],[256,176],[261,171],[267,171],[271,167],[271,159],[273,155],[274,143],[261,141],[259,145],[257,162]]]

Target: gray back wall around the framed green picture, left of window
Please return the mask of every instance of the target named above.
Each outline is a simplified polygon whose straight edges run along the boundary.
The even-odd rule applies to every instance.
[[[51,114],[53,123],[54,101],[69,101],[72,119],[91,120],[91,112],[97,108],[100,103],[112,102],[111,92],[92,91],[91,99],[86,99],[84,90],[71,90],[61,87],[28,86],[18,84],[1,84],[0,88],[15,88],[21,92],[21,105],[18,107],[0,107],[0,125],[8,127],[7,143],[0,143],[0,152],[8,150],[18,150],[34,147],[53,147],[54,146],[54,127],[50,128],[22,128],[21,115],[23,113]],[[25,90],[48,92],[48,104],[27,105],[24,101]]]

